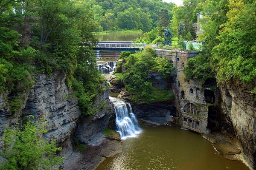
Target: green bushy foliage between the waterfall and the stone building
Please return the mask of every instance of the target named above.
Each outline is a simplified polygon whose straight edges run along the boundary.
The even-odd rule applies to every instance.
[[[151,47],[147,47],[137,54],[131,54],[126,58],[124,67],[125,73],[122,82],[133,95],[132,100],[148,103],[159,99],[153,95],[155,89],[149,82],[148,73],[160,72],[167,79],[171,76],[170,70],[174,68],[167,58],[156,57],[156,53]]]

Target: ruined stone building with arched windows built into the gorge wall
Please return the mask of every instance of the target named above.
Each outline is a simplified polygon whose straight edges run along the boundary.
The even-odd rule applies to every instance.
[[[157,49],[157,56],[167,57],[175,66],[175,77],[172,82],[172,91],[175,94],[175,106],[179,124],[186,129],[198,133],[209,133],[208,104],[204,96],[204,89],[194,79],[185,80],[183,68],[187,59],[197,56],[196,51],[174,51]],[[214,99],[213,99],[214,100]]]

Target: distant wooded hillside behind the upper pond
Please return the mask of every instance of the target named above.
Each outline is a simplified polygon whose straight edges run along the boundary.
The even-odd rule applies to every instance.
[[[95,31],[120,29],[150,31],[159,22],[169,26],[171,11],[175,6],[174,3],[158,0],[87,0],[86,2],[93,11],[94,21],[99,24]]]

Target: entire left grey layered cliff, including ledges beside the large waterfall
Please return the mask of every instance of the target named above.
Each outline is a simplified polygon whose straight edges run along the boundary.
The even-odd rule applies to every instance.
[[[75,132],[81,142],[96,146],[98,152],[105,157],[119,152],[122,149],[121,142],[106,141],[102,134],[102,130],[108,127],[114,115],[113,103],[109,99],[110,89],[105,84],[107,90],[99,94],[96,100],[96,107],[102,101],[105,102],[105,107],[101,108],[95,116],[81,119],[78,100],[76,97],[70,98],[72,91],[65,84],[65,78],[65,74],[61,72],[53,73],[52,77],[47,74],[38,74],[32,88],[21,94],[23,105],[17,113],[10,113],[6,105],[8,92],[0,94],[0,137],[6,127],[12,127],[17,122],[22,123],[22,119],[33,115],[35,120],[42,118],[47,122],[48,133],[44,137],[56,139],[58,146],[62,147],[60,155],[65,157],[64,165],[84,161],[84,156],[76,151],[73,144]],[[111,145],[111,143],[115,144]],[[0,147],[3,147],[2,138],[0,138]],[[109,150],[104,151],[103,148],[109,148]],[[99,162],[91,162],[90,167],[93,168],[97,164]],[[81,163],[78,169],[84,167],[88,165]],[[70,170],[73,167],[63,166],[62,168]]]

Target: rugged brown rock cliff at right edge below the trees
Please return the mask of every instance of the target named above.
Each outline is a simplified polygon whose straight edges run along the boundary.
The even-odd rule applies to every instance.
[[[238,88],[239,87],[239,88]],[[241,85],[219,86],[221,114],[242,145],[241,159],[250,169],[256,169],[256,102]]]

